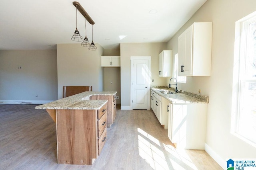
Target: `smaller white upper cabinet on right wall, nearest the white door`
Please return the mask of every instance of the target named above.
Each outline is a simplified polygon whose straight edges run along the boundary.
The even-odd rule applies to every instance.
[[[172,76],[172,50],[164,50],[158,55],[159,77]]]

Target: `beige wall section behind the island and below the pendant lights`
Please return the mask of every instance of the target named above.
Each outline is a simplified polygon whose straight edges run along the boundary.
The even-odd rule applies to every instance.
[[[103,91],[104,72],[100,56],[104,49],[96,44],[90,51],[80,44],[57,44],[58,98],[63,86],[92,86],[93,91]]]

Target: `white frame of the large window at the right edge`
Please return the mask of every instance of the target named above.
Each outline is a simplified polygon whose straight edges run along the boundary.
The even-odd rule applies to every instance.
[[[248,46],[248,33],[250,23],[256,22],[256,12],[236,21],[235,48],[234,48],[234,74],[233,74],[233,96],[232,96],[232,125],[231,133],[246,143],[256,147],[256,139],[248,137],[239,131],[239,124],[242,121],[242,106],[244,103],[245,83],[256,82],[255,78],[246,76],[246,59]]]

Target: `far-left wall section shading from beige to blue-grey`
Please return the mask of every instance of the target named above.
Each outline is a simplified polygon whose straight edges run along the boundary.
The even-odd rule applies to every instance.
[[[57,99],[56,50],[0,51],[0,100]]]

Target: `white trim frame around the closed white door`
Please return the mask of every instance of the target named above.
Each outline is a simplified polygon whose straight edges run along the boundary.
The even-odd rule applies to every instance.
[[[148,60],[148,106],[147,109],[150,110],[150,84],[151,84],[151,56],[130,56],[130,107],[133,109],[132,96],[133,96],[133,86],[132,86],[132,61],[134,60]]]

